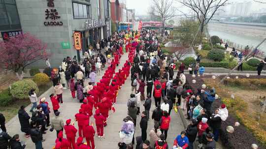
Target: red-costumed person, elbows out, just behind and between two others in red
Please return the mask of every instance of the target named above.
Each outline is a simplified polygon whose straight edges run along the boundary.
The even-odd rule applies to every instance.
[[[82,137],[82,129],[85,124],[89,124],[89,116],[83,113],[82,109],[79,109],[79,113],[75,114],[76,121],[78,122],[78,135]]]

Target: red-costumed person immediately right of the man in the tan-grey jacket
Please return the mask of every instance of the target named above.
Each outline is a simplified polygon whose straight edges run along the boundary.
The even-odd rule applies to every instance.
[[[72,148],[75,149],[75,137],[77,133],[77,129],[75,126],[73,126],[71,123],[71,119],[66,120],[66,125],[64,126],[64,129],[66,131],[66,139],[69,143],[71,143]]]

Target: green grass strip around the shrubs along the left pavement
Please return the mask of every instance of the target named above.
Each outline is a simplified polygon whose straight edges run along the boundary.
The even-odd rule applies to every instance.
[[[52,86],[52,82],[48,83],[46,86],[39,86],[39,94],[42,95]],[[14,101],[7,106],[0,106],[0,113],[5,117],[5,121],[8,122],[12,119],[17,113],[21,105],[28,106],[31,103],[30,99],[14,99]]]

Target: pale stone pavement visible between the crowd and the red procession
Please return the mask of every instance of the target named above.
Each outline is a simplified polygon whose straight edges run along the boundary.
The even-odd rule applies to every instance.
[[[120,65],[116,68],[116,71],[118,71],[119,68],[122,68],[123,64],[128,58],[128,54],[124,54],[120,60]],[[101,75],[103,75],[103,71],[101,72]],[[100,76],[101,76],[100,75]],[[100,76],[97,76],[97,81],[99,80]],[[85,81],[85,85],[88,83],[89,79]],[[146,90],[146,89],[145,89]],[[52,104],[50,102],[49,95],[53,93],[53,88],[50,88],[48,91],[46,91],[43,95],[39,97],[45,97],[46,100],[49,102],[49,106],[52,108]],[[107,126],[104,127],[104,138],[98,138],[97,135],[95,135],[95,145],[97,149],[118,149],[118,142],[121,141],[119,138],[119,131],[121,129],[122,125],[122,120],[127,116],[127,100],[129,99],[131,94],[131,80],[130,77],[126,80],[125,84],[122,86],[122,89],[119,90],[118,97],[117,97],[117,103],[114,105],[115,106],[115,113],[110,111],[109,113],[109,119],[107,119]],[[74,115],[78,112],[80,108],[80,103],[77,99],[72,99],[71,93],[69,89],[64,90],[63,92],[63,100],[64,104],[60,107],[59,111],[61,112],[61,116],[64,119],[64,122],[66,122],[67,119],[71,119],[72,122],[74,121]],[[141,107],[140,111],[142,112],[144,110],[144,107],[142,104],[144,101],[141,102]],[[31,105],[27,107],[27,112],[31,116],[31,112],[29,112]],[[155,109],[154,105],[154,99],[152,99],[152,107],[150,111],[150,118],[152,114],[152,110]],[[52,111],[52,110],[51,110]],[[50,119],[54,117],[54,113],[50,113]],[[137,116],[136,120],[136,132],[135,132],[135,137],[141,135],[141,130],[139,126],[141,116]],[[90,119],[90,123],[94,122],[94,118]],[[95,123],[94,123],[95,124]],[[77,122],[75,122],[75,126],[77,127]],[[148,123],[148,129],[147,129],[147,136],[149,139],[149,130],[154,127],[153,120],[149,120]],[[31,138],[26,138],[24,136],[24,133],[20,131],[20,124],[18,120],[18,115],[16,115],[14,118],[12,118],[7,124],[6,124],[7,131],[10,136],[13,136],[14,134],[19,134],[20,135],[20,140],[24,141],[27,143],[26,149],[35,149],[35,146],[31,140]],[[50,128],[50,127],[49,127]],[[48,128],[48,129],[49,129]],[[95,127],[96,129],[96,127]],[[182,131],[184,130],[184,125],[181,121],[181,118],[178,113],[174,113],[174,110],[172,110],[171,113],[171,123],[170,123],[170,128],[168,131],[168,136],[167,136],[167,142],[169,144],[169,147],[172,146],[174,138]],[[77,133],[78,135],[78,133]],[[43,135],[44,141],[43,148],[44,149],[52,149],[53,146],[55,145],[55,139],[56,139],[56,131],[54,130],[53,132],[50,132],[49,130],[47,131],[46,134]],[[64,133],[64,137],[65,133]],[[77,137],[76,137],[77,139]]]

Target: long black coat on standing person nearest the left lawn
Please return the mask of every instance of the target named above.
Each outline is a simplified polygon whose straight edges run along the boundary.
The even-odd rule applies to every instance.
[[[28,132],[30,128],[29,120],[31,119],[31,117],[25,110],[22,110],[22,109],[18,111],[18,117],[19,117],[19,123],[21,126],[20,130],[22,132]]]

